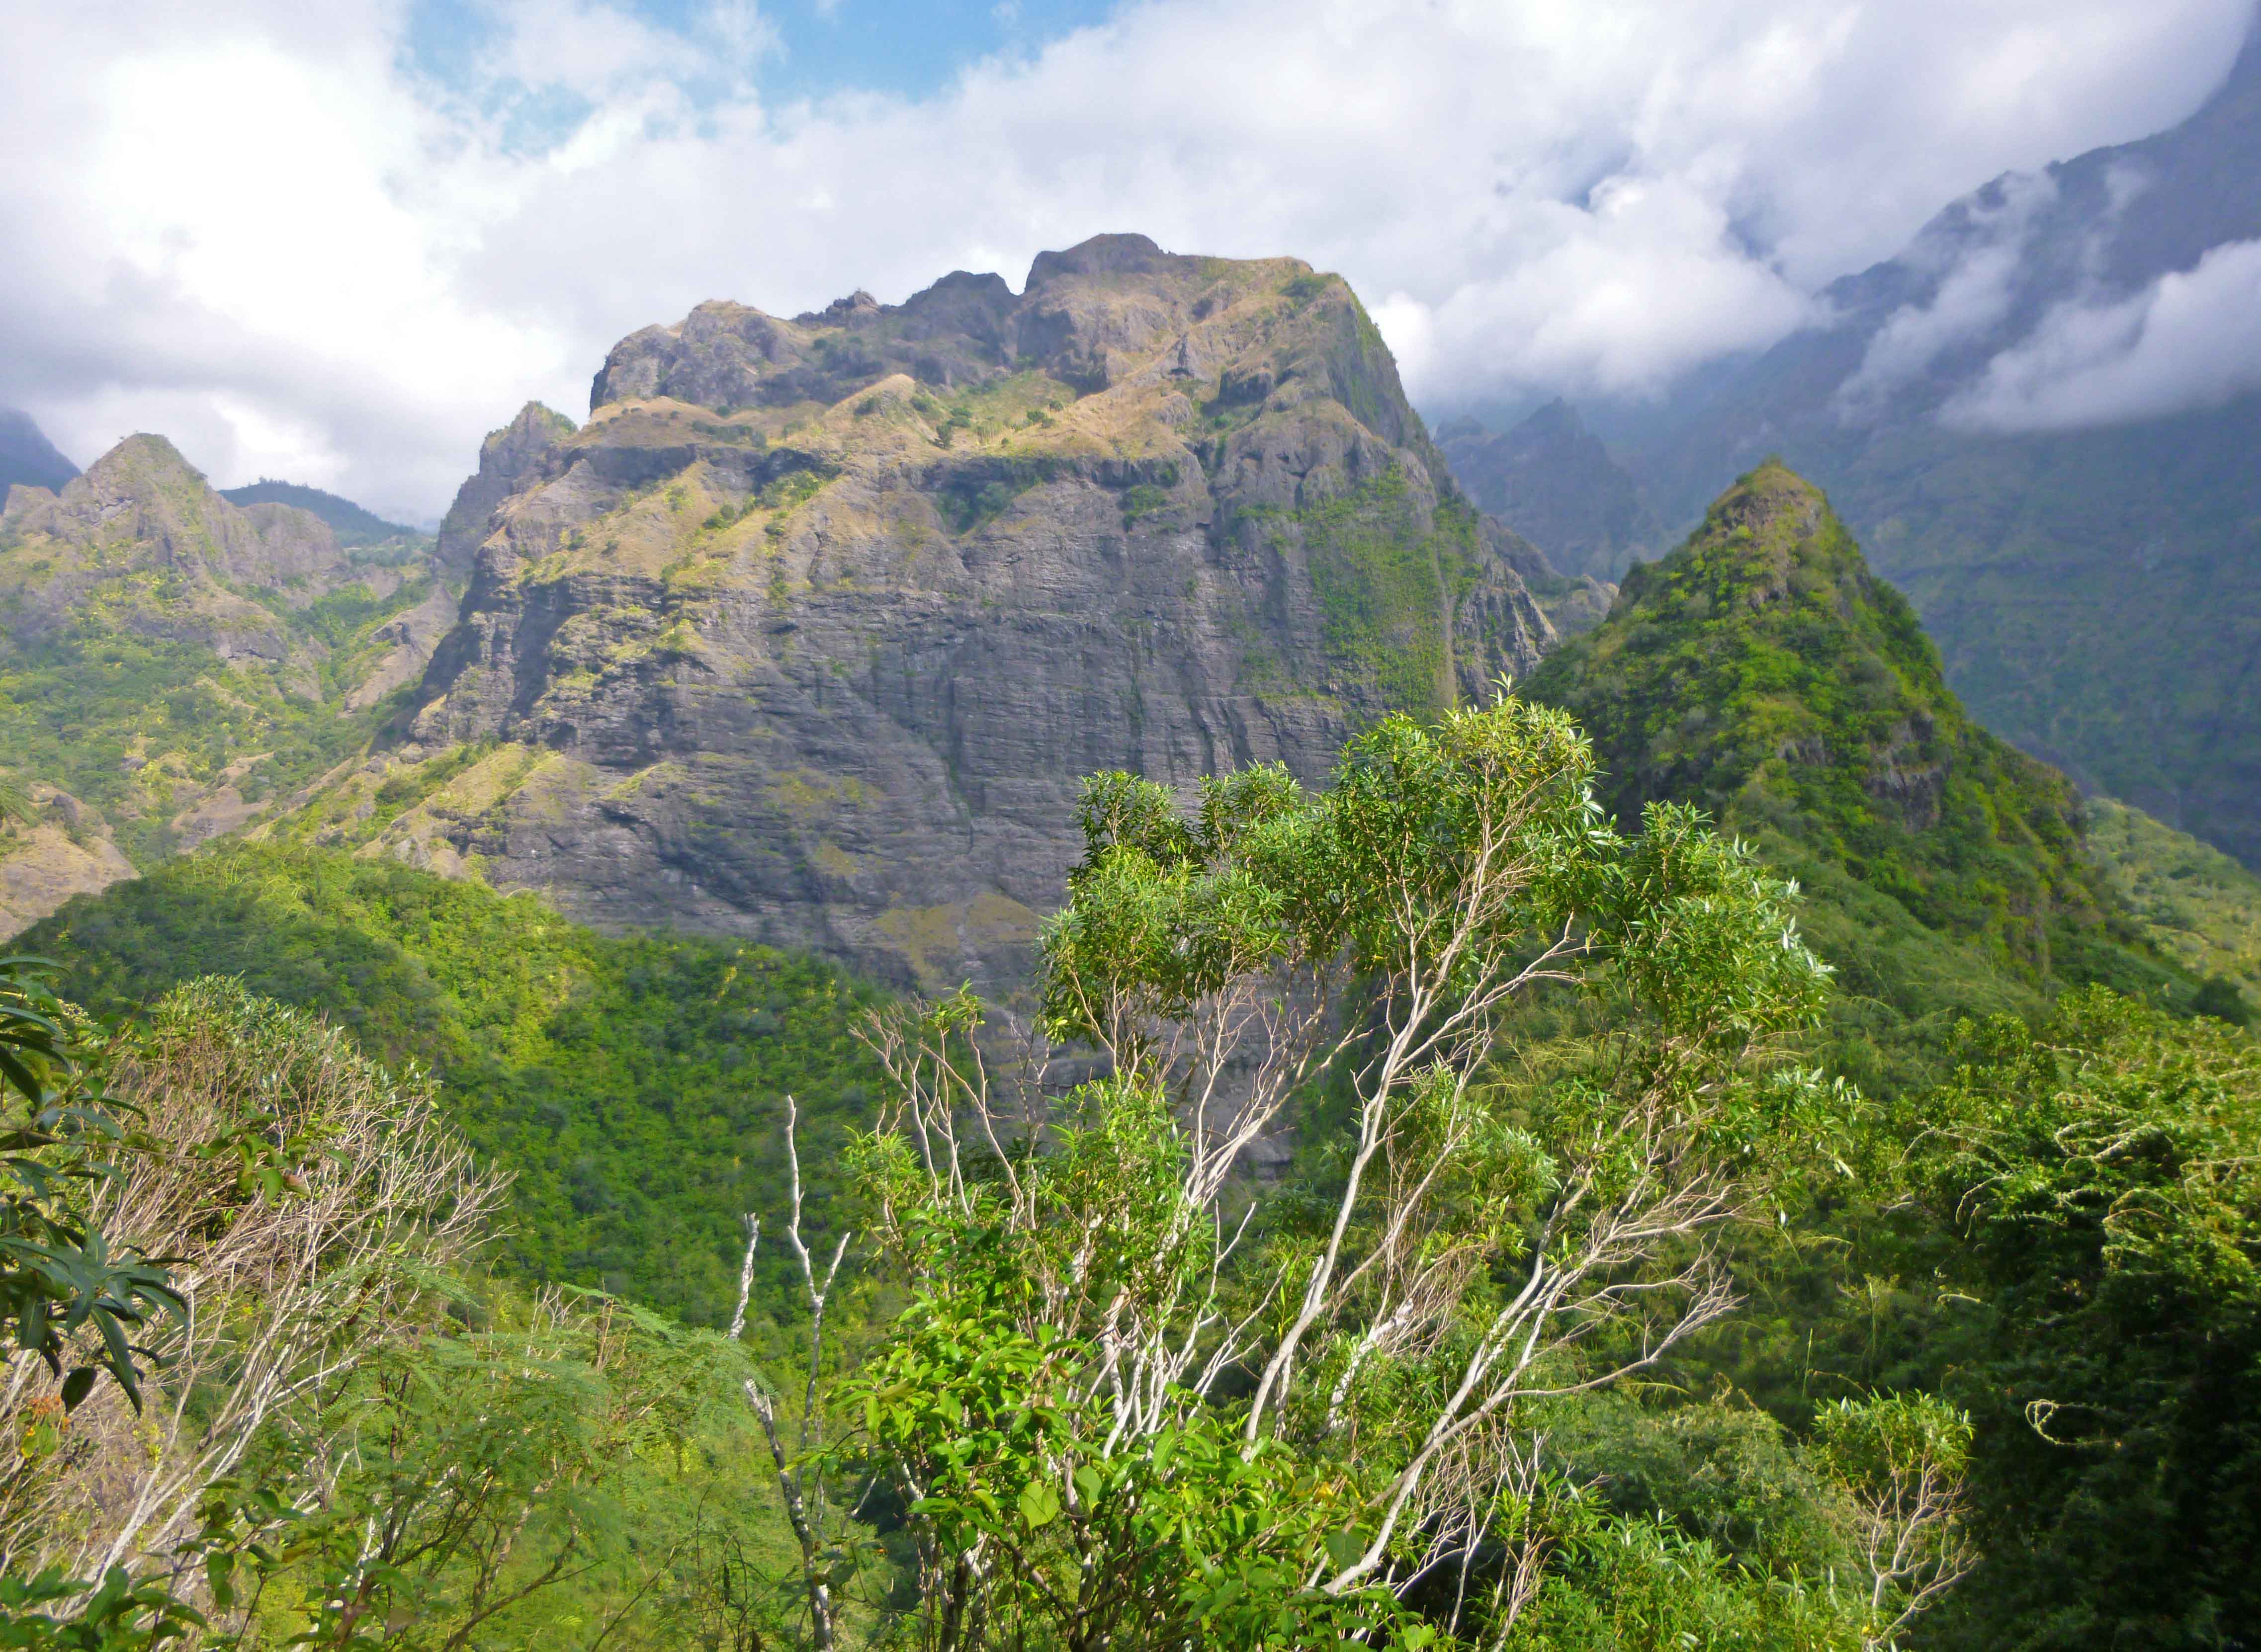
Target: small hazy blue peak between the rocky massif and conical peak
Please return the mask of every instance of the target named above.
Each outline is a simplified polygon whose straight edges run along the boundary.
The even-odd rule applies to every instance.
[[[1436,445],[1470,499],[1567,574],[1617,579],[1632,558],[1664,545],[1648,495],[1565,400],[1504,432],[1456,418],[1438,429]]]

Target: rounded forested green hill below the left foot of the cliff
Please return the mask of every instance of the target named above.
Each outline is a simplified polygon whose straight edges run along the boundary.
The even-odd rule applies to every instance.
[[[79,897],[20,940],[124,1012],[203,974],[321,1010],[441,1078],[518,1177],[500,1261],[714,1322],[739,1214],[785,1184],[785,1096],[818,1189],[868,1119],[855,1037],[875,994],[823,963],[721,940],[608,938],[531,895],[393,861],[233,845]],[[782,1263],[782,1257],[771,1259]]]

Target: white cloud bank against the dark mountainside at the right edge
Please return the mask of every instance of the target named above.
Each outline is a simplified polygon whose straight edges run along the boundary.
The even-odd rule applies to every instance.
[[[2211,249],[2119,303],[2069,303],[1947,405],[1972,429],[2078,429],[2261,389],[2261,242]]]

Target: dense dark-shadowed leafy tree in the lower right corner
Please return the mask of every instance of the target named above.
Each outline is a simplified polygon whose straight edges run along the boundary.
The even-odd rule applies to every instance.
[[[1951,1645],[2225,1647],[2261,1623],[2261,1058],[2103,990],[1963,1026],[1908,1121],[1985,1559]]]

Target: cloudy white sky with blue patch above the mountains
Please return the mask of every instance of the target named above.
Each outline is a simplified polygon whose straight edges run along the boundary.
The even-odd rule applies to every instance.
[[[1816,323],[1978,183],[2182,120],[2252,14],[0,0],[0,405],[81,466],[154,429],[219,486],[430,522],[486,429],[579,418],[640,325],[1017,289],[1101,231],[1341,271],[1427,409],[1639,400]],[[1967,416],[2171,405],[2220,373],[2193,319],[2256,282],[2232,246],[2067,316]]]

